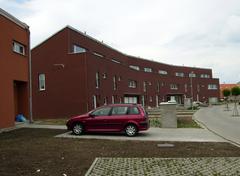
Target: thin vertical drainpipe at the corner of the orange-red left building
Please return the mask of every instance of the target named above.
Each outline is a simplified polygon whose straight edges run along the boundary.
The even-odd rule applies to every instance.
[[[29,32],[29,122],[33,123],[33,117],[32,117],[32,57],[31,57],[31,39],[30,39],[30,30],[28,28]]]

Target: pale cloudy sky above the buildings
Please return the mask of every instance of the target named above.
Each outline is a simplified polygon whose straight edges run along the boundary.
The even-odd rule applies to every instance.
[[[31,47],[70,25],[126,53],[240,81],[240,0],[0,0]]]

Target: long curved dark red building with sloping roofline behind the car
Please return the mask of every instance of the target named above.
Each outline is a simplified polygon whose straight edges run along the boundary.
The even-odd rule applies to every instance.
[[[32,49],[33,117],[58,118],[111,103],[156,107],[174,97],[218,101],[212,70],[126,55],[67,26]]]

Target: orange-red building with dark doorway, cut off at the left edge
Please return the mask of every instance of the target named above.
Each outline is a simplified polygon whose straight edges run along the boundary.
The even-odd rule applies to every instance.
[[[29,27],[0,8],[0,128],[29,115]]]

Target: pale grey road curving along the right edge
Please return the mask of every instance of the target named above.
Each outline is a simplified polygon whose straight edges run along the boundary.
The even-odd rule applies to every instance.
[[[233,104],[230,111],[225,105],[201,108],[194,114],[194,118],[212,132],[240,146],[240,116],[233,117]],[[238,111],[240,108],[238,105]]]

